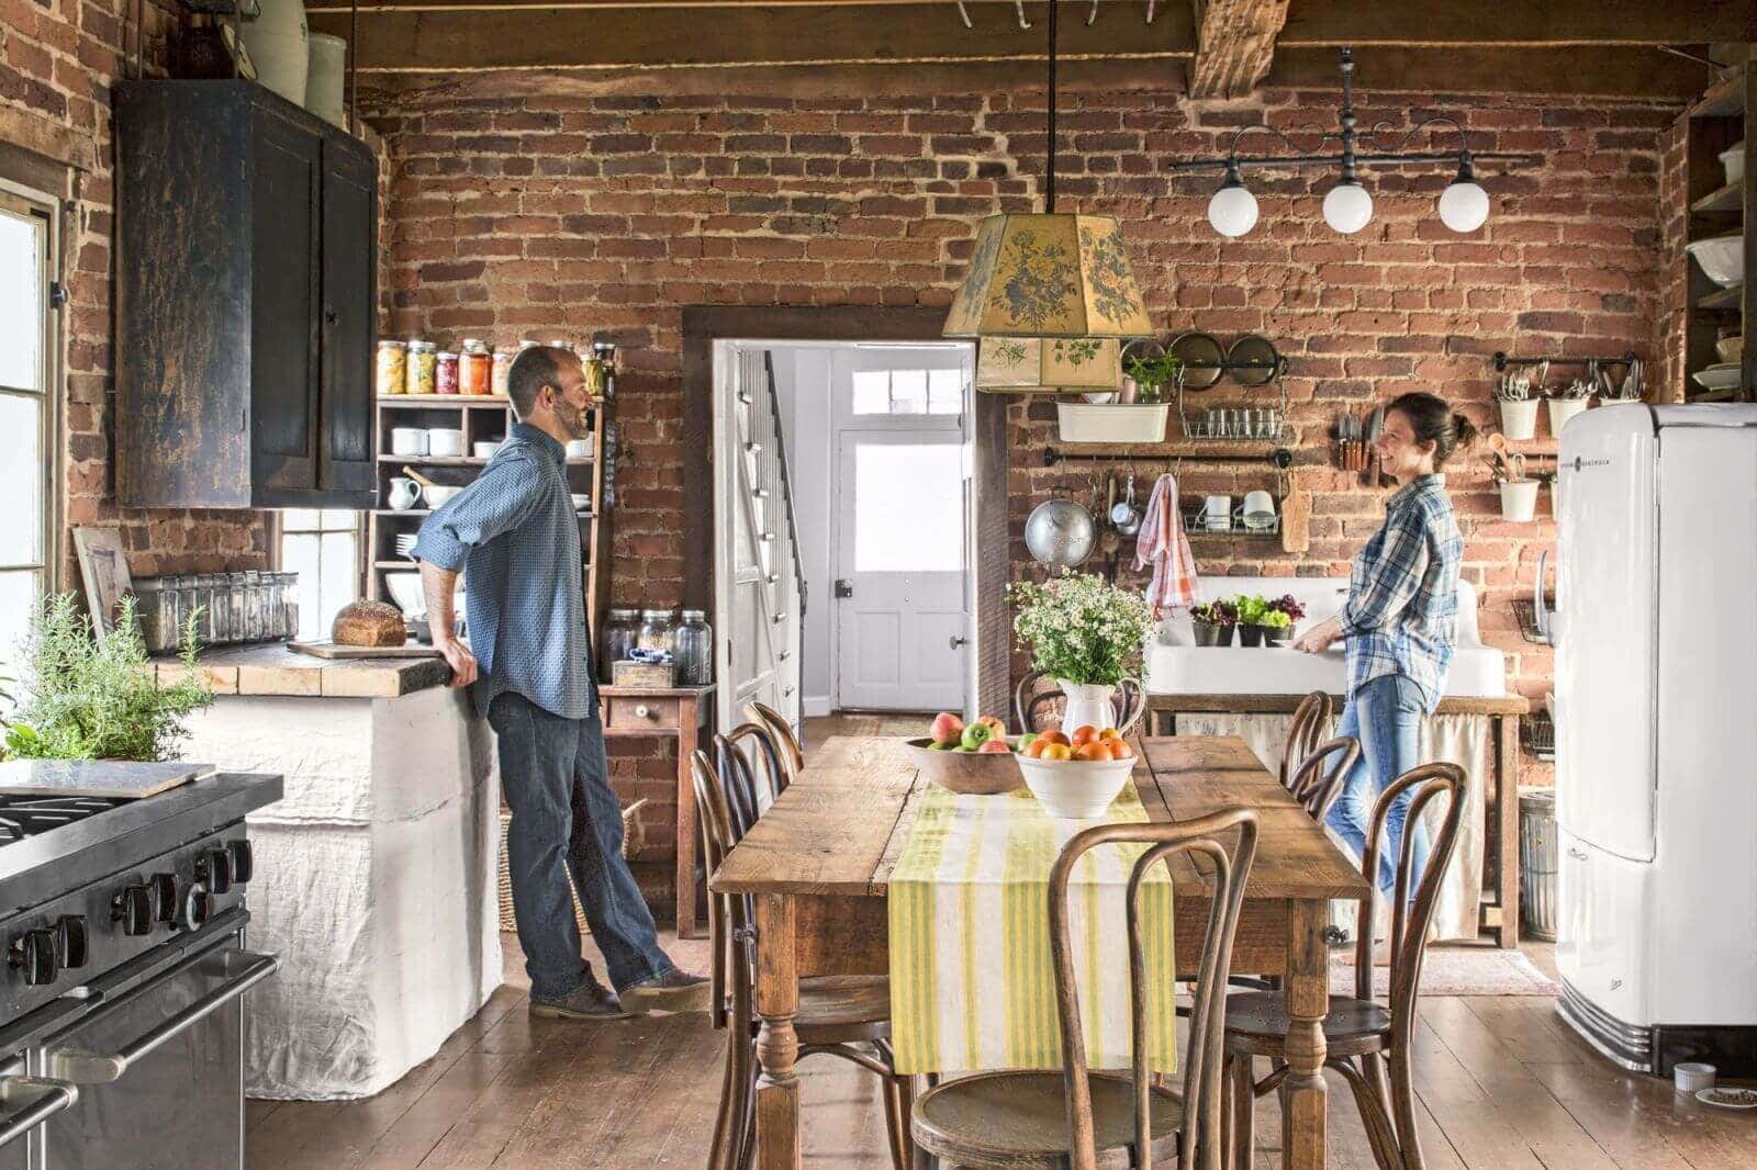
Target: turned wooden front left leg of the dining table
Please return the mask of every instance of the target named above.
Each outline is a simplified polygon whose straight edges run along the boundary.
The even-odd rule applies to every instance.
[[[799,1170],[799,968],[789,894],[757,894],[757,1159],[756,1170]]]

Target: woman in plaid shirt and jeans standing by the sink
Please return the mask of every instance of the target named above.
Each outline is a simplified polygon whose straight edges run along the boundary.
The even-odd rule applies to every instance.
[[[1374,446],[1385,474],[1399,487],[1385,504],[1385,524],[1355,557],[1342,611],[1293,643],[1321,654],[1337,638],[1348,639],[1348,706],[1339,734],[1360,740],[1362,755],[1342,782],[1328,824],[1356,852],[1365,852],[1379,792],[1421,762],[1421,717],[1434,711],[1446,689],[1446,666],[1458,641],[1464,538],[1439,469],[1474,441],[1471,420],[1432,394],[1404,394],[1386,404]],[[1379,854],[1385,891],[1402,857],[1411,799],[1414,789],[1386,817],[1388,840]],[[1428,854],[1427,831],[1418,824],[1414,833],[1411,892]]]

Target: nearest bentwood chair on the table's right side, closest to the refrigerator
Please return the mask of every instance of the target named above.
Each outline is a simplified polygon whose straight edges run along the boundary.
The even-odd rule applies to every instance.
[[[1392,996],[1390,1007],[1372,998],[1372,931],[1362,929],[1355,943],[1355,994],[1330,996],[1323,1021],[1325,1066],[1342,1073],[1367,1126],[1372,1156],[1383,1170],[1421,1170],[1421,1140],[1416,1133],[1416,1100],[1409,1079],[1409,1049],[1416,1024],[1416,996],[1421,987],[1421,959],[1427,931],[1434,921],[1441,880],[1458,847],[1464,820],[1464,769],[1457,764],[1421,764],[1399,776],[1372,810],[1360,871],[1372,884],[1377,901],[1379,836],[1392,803],[1414,789],[1404,824],[1416,824],[1427,805],[1446,798],[1446,815],[1428,852],[1427,870],[1409,898],[1409,868],[1414,857],[1414,833],[1404,833],[1392,891]],[[1372,903],[1362,908],[1362,922],[1372,921]],[[1232,1170],[1251,1168],[1251,1114],[1256,1098],[1272,1093],[1286,1079],[1286,1000],[1277,991],[1237,994],[1226,1001],[1226,1147]],[[1274,1070],[1256,1080],[1254,1061],[1267,1056]]]

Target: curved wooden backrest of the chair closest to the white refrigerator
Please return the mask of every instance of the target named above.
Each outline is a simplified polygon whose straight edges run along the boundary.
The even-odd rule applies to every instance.
[[[1360,938],[1355,943],[1355,998],[1372,998],[1372,928],[1370,922],[1379,901],[1379,838],[1385,834],[1385,820],[1399,796],[1414,789],[1409,812],[1404,815],[1404,840],[1397,857],[1397,878],[1392,887],[1392,1031],[1393,1044],[1409,1044],[1409,1028],[1414,1024],[1416,994],[1421,986],[1421,959],[1427,954],[1427,933],[1434,924],[1434,910],[1439,903],[1439,887],[1446,877],[1446,866],[1458,849],[1458,829],[1464,824],[1465,776],[1458,764],[1421,764],[1397,776],[1372,806],[1372,827],[1367,833],[1367,847],[1360,859],[1360,871],[1372,884],[1372,898],[1362,908]],[[1446,815],[1441,819],[1439,833],[1428,843],[1427,870],[1409,898],[1409,870],[1414,859],[1416,824],[1423,810],[1441,796],[1446,798]]]

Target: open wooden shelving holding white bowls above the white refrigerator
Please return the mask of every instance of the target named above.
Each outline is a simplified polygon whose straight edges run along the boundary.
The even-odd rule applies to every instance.
[[[1757,70],[1750,65],[1715,83],[1687,112],[1685,144],[1685,239],[1688,242],[1743,232],[1745,279],[1720,288],[1703,274],[1694,258],[1685,258],[1688,313],[1685,318],[1685,402],[1727,402],[1757,399],[1757,169],[1745,167],[1745,177],[1727,183],[1720,153],[1745,141],[1745,112],[1757,104]],[[1748,153],[1746,153],[1748,156]],[[1739,358],[1739,383],[1727,390],[1697,385],[1697,371],[1718,362],[1715,341],[1734,329],[1745,337]]]

